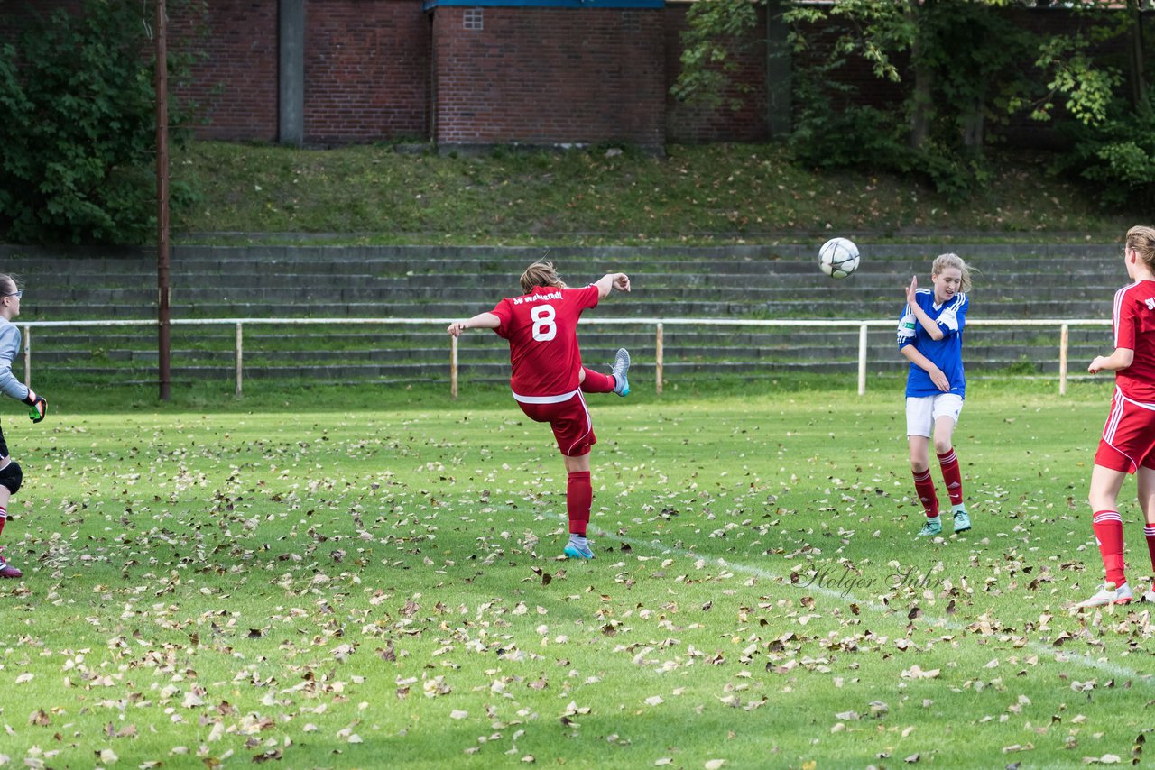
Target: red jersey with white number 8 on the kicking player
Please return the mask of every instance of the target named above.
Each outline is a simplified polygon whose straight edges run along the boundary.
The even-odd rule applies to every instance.
[[[569,397],[578,390],[581,351],[578,319],[597,307],[597,286],[557,289],[534,286],[521,297],[502,299],[493,308],[501,320],[498,336],[509,341],[509,386],[514,396]]]

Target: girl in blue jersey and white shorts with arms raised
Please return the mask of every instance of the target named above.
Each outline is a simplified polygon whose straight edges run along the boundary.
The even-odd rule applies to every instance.
[[[959,424],[967,377],[962,372],[962,330],[970,304],[970,270],[957,254],[940,254],[931,266],[933,289],[919,289],[915,276],[907,289],[907,307],[899,320],[899,350],[910,361],[907,374],[907,441],[915,492],[923,503],[926,522],[918,534],[942,532],[938,495],[931,479],[930,442],[942,469],[942,483],[951,496],[955,532],[970,529],[962,502],[962,472],[951,436]]]

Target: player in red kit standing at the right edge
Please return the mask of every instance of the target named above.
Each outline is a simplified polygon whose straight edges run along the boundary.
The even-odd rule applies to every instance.
[[[1123,479],[1135,474],[1143,536],[1155,573],[1155,227],[1127,231],[1123,263],[1131,283],[1115,293],[1115,352],[1096,356],[1087,371],[1115,372],[1115,396],[1090,472],[1091,528],[1106,580],[1079,607],[1130,604],[1134,598],[1123,563],[1123,519],[1117,499]],[[1142,595],[1155,601],[1155,586]]]

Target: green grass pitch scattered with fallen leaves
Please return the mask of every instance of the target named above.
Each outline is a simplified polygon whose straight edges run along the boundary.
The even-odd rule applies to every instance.
[[[1052,384],[971,388],[975,528],[934,541],[897,382],[594,397],[586,563],[558,559],[549,431],[500,389],[60,390],[5,424],[0,765],[1141,760],[1150,608],[1068,608],[1102,580],[1109,383]]]

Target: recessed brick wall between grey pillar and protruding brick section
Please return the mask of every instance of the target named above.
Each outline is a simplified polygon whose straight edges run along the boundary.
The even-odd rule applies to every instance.
[[[413,0],[305,8],[305,141],[429,136],[430,20]]]

